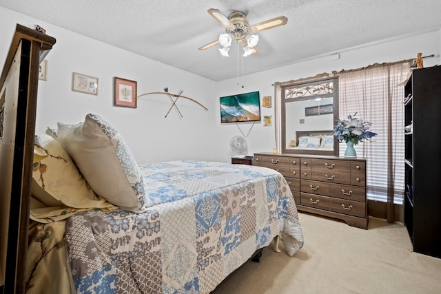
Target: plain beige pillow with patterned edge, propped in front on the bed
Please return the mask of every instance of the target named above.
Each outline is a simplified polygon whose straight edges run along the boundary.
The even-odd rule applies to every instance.
[[[125,140],[100,116],[88,114],[78,125],[58,123],[58,140],[99,196],[136,213],[152,205]]]

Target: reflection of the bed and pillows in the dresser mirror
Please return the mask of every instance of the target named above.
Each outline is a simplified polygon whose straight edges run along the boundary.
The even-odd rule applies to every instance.
[[[296,141],[289,143],[287,149],[332,151],[334,150],[334,131],[297,131]]]

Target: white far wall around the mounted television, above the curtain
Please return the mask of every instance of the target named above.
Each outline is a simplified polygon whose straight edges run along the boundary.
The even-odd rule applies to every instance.
[[[287,65],[285,67],[278,67],[273,70],[265,72],[258,72],[256,74],[249,74],[245,76],[245,87],[241,88],[237,85],[236,78],[217,83],[218,92],[221,96],[233,94],[236,92],[251,92],[260,91],[260,96],[271,96],[272,105],[270,109],[262,107],[263,115],[274,114],[274,83],[291,81],[298,78],[306,78],[316,76],[323,72],[332,72],[340,70],[350,70],[359,67],[365,67],[373,63],[384,63],[401,61],[404,59],[416,58],[418,52],[422,52],[423,56],[435,54],[434,58],[424,59],[424,67],[440,64],[440,47],[441,47],[441,30],[438,32],[430,32],[420,34],[418,36],[411,36],[406,39],[389,40],[375,44],[369,44],[365,47],[350,48],[340,52],[340,59],[336,61],[331,60],[331,54],[337,52],[330,52],[328,56],[320,56],[316,59],[302,61]],[[264,52],[261,52],[263,54]],[[296,54],[296,52],[292,52]],[[247,63],[252,62],[252,57],[247,57]],[[219,121],[218,118],[216,118]],[[273,122],[274,125],[274,122]],[[248,130],[246,125],[243,127]],[[216,125],[216,134],[218,134],[218,145],[216,148],[216,156],[218,160],[226,158],[225,149],[228,148],[229,138],[240,134],[235,125]],[[275,127],[264,127],[263,123],[255,125],[252,132],[247,137],[249,146],[249,154],[254,152],[272,152],[276,147],[275,143]]]

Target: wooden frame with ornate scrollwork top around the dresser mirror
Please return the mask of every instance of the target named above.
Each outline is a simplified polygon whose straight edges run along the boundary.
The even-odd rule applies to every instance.
[[[295,88],[304,88],[305,91],[308,91],[311,89],[311,87],[314,86],[319,86],[325,83],[332,83],[332,87],[333,87],[333,91],[332,94],[331,93],[325,93],[325,94],[320,94],[320,90],[323,90],[322,88],[316,90],[318,92],[318,94],[311,94],[309,96],[298,96],[295,98],[289,98],[289,101],[287,100],[287,98],[285,98],[285,91],[289,90],[293,87]],[[280,86],[281,94],[282,94],[282,99],[281,99],[281,103],[280,103],[280,110],[281,110],[281,123],[282,123],[282,153],[285,154],[314,154],[314,155],[327,155],[327,156],[338,156],[339,154],[339,142],[336,139],[336,137],[334,136],[334,150],[294,150],[294,149],[287,149],[287,141],[286,141],[286,125],[285,125],[285,119],[286,119],[286,113],[285,113],[285,109],[286,109],[286,105],[285,103],[291,103],[291,102],[295,102],[295,101],[301,101],[301,100],[306,100],[306,99],[311,99],[311,96],[313,97],[329,97],[329,96],[333,96],[334,97],[334,102],[333,102],[333,112],[334,112],[334,122],[336,120],[338,120],[338,76],[332,76],[329,78],[320,78],[320,79],[316,79],[314,81],[302,81],[302,82],[298,82],[298,83],[289,83],[286,85],[281,85]],[[309,92],[310,93],[310,92]],[[334,130],[334,125],[332,125],[332,130]]]

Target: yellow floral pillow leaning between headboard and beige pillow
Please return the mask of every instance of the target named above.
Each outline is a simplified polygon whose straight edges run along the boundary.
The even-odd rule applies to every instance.
[[[94,194],[63,147],[46,134],[35,137],[32,181],[30,218],[37,222],[62,220],[79,209],[113,207]]]

